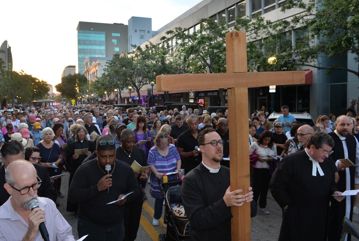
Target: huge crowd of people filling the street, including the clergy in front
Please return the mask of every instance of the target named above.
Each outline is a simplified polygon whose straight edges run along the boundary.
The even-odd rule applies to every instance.
[[[55,218],[53,223],[60,225],[47,223],[51,237],[73,240],[71,227],[56,209],[57,198],[65,198],[59,175],[68,172],[66,211],[78,218],[79,237],[89,234],[86,240],[135,240],[148,184],[155,199],[152,225],[158,226],[164,203],[160,185],[164,176],[177,180],[181,173],[183,207],[198,240],[230,240],[230,207],[250,203],[255,216],[258,203],[261,212],[270,214],[269,190],[283,208],[279,240],[339,240],[344,216],[359,213],[356,197],[340,196],[359,189],[355,168],[341,161],[359,164],[354,111],[337,118],[321,115],[312,127],[300,125],[288,106],[281,110],[273,123],[265,108],[255,110],[248,121],[247,191],[229,188],[228,110],[200,114],[186,105],[159,113],[155,107],[102,105],[5,110],[0,118],[0,180],[5,184],[0,212],[8,216],[0,217],[0,239],[12,240],[14,233],[4,228],[8,225],[37,240],[39,223]],[[134,162],[149,169],[134,171]],[[29,201],[36,198],[39,208],[29,210]],[[21,224],[6,219],[14,216],[13,210]],[[162,225],[167,227],[166,218]]]

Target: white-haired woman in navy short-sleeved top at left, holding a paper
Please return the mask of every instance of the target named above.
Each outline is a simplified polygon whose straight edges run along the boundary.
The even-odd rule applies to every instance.
[[[60,146],[52,141],[54,136],[52,129],[46,127],[41,132],[42,141],[36,145],[40,149],[41,161],[39,161],[39,164],[47,167],[50,176],[61,174],[57,171],[57,166],[62,161],[61,150]],[[57,189],[57,179],[54,181],[53,187],[55,190]]]

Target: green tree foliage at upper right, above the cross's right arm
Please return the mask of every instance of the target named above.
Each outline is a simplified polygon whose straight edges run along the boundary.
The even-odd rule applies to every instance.
[[[235,29],[247,31],[248,70],[292,70],[308,66],[326,70],[326,74],[347,71],[359,78],[359,0],[309,0],[307,3],[288,0],[286,3],[281,11],[300,9],[301,13],[276,22],[264,21],[261,17],[237,19]],[[301,36],[297,36],[291,46],[286,35],[294,29],[298,29]],[[256,42],[261,38],[264,43]],[[354,68],[341,64],[348,53],[354,56]],[[268,63],[269,57],[276,57],[277,63]],[[321,62],[321,57],[329,61]]]

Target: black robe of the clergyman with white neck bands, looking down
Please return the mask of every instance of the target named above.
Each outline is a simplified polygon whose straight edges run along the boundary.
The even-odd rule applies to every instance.
[[[278,162],[270,181],[273,198],[284,208],[279,241],[326,240],[327,205],[335,186],[335,165],[319,162],[324,173],[312,175],[313,162],[303,151],[292,153]]]

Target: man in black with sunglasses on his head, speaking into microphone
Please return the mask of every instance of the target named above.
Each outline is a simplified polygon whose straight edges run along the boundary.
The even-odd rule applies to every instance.
[[[79,203],[79,237],[88,234],[86,240],[123,240],[123,204],[138,197],[140,188],[131,167],[116,160],[115,142],[110,136],[97,141],[96,154],[96,159],[76,170],[69,188],[69,201]],[[109,174],[106,165],[111,166]],[[128,193],[127,198],[107,204]]]

